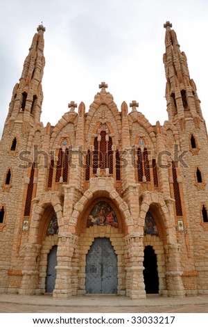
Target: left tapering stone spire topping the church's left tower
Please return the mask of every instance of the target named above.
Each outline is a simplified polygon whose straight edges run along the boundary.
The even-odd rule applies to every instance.
[[[24,61],[23,70],[19,83],[15,85],[10,102],[7,121],[13,125],[17,115],[23,125],[28,122],[40,122],[40,114],[43,100],[42,77],[44,72],[44,31],[41,24],[37,27],[37,33],[33,37],[28,56]]]

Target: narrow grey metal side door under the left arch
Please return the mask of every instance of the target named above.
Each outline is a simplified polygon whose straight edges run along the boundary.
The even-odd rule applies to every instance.
[[[57,266],[57,246],[53,246],[48,255],[48,266],[47,266],[47,276],[46,276],[46,292],[53,292],[55,288],[55,278]]]

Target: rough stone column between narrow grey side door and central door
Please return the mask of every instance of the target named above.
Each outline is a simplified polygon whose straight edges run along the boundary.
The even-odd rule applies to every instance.
[[[57,271],[55,280],[55,289],[53,298],[69,298],[71,296],[71,271],[72,257],[75,244],[75,236],[69,232],[60,232],[58,234],[58,265],[55,267]]]

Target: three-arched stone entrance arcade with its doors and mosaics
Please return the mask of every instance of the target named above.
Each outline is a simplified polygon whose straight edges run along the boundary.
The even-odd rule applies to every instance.
[[[31,294],[53,292],[54,298],[79,294],[183,296],[178,246],[168,243],[169,217],[162,196],[146,192],[141,214],[142,209],[147,211],[145,218],[139,217],[141,232],[135,232],[112,179],[106,182],[99,177],[91,183],[73,209],[67,232],[59,193],[46,193],[38,203],[24,266],[27,270],[35,260],[36,271],[24,274],[19,293],[28,294],[29,289]],[[64,197],[74,191],[66,185]]]

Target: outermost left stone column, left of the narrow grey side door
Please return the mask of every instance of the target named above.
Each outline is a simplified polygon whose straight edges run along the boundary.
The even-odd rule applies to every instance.
[[[21,287],[19,294],[36,294],[39,282],[37,256],[40,254],[40,244],[26,244],[24,269],[22,270]]]

